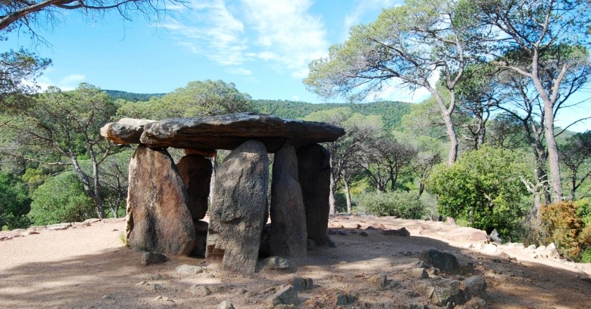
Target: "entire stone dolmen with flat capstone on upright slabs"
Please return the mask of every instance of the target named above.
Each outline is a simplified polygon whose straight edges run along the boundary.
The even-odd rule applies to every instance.
[[[139,144],[129,162],[127,244],[201,254],[221,261],[223,270],[251,273],[270,216],[274,256],[305,256],[310,240],[329,245],[331,168],[319,143],[344,134],[331,124],[258,113],[106,124],[101,135],[108,140]],[[175,164],[167,147],[184,149],[184,157]],[[231,152],[214,172],[208,158],[217,150]],[[202,221],[207,211],[209,224]]]

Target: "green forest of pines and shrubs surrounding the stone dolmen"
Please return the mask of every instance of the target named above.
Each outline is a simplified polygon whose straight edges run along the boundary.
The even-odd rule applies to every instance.
[[[90,84],[39,93],[24,81],[51,61],[2,53],[0,227],[124,216],[134,147],[99,135],[110,121],[265,112],[345,129],[324,144],[332,213],[449,216],[591,262],[591,131],[554,119],[588,104],[573,100],[590,84],[589,5],[407,1],[352,27],[304,80],[326,101],[361,102],[391,84],[431,93],[417,104],[253,100],[222,80],[154,95]]]

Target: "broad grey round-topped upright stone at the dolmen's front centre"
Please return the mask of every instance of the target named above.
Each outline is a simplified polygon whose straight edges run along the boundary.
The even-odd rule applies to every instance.
[[[255,271],[269,166],[265,145],[249,140],[217,168],[206,258],[222,258],[224,270]]]

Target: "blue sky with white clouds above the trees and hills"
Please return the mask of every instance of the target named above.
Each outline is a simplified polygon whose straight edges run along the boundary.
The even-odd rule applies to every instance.
[[[0,51],[24,46],[53,60],[40,86],[72,89],[80,82],[103,89],[167,93],[189,81],[222,79],[254,99],[321,103],[302,82],[311,60],[348,38],[352,25],[376,20],[401,0],[189,0],[174,18],[154,24],[116,14],[84,18],[64,13],[53,29],[37,29],[49,46],[13,34]],[[581,96],[588,96],[585,93]],[[420,102],[392,88],[374,99]],[[566,125],[591,114],[591,103],[559,114]],[[587,126],[576,127],[584,131]]]

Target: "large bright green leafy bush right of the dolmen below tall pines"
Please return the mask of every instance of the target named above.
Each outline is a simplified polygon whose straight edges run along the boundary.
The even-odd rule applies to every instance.
[[[465,219],[474,228],[501,237],[518,230],[526,196],[521,178],[529,173],[524,156],[490,146],[465,152],[453,166],[437,166],[428,188],[438,195],[443,216]]]

